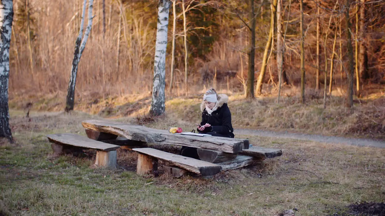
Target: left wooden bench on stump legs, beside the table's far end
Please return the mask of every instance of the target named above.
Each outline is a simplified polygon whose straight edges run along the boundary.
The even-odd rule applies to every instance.
[[[52,143],[52,150],[55,155],[71,152],[74,149],[96,149],[96,166],[116,167],[116,149],[120,146],[91,140],[85,136],[71,133],[59,133],[47,135]]]

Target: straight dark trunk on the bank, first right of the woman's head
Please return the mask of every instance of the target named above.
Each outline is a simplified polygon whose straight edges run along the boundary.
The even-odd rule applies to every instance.
[[[250,41],[249,41],[249,65],[246,98],[254,98],[254,58],[255,58],[255,12],[254,0],[249,0]]]

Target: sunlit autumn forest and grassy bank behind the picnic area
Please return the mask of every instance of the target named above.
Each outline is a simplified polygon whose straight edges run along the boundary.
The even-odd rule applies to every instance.
[[[265,50],[268,57],[263,85],[255,93],[258,100],[244,100],[248,84],[251,2],[190,0],[182,5],[182,1],[177,1],[172,81],[172,7],[168,26],[168,109],[176,113],[177,118],[183,118],[189,114],[184,105],[197,106],[200,99],[194,101],[194,98],[200,98],[213,86],[231,96],[233,119],[238,126],[308,133],[321,130],[321,133],[383,138],[384,1],[351,1],[348,4],[351,28],[346,24],[345,1],[303,1],[305,107],[300,105],[300,1],[278,1],[278,5],[275,5],[277,1],[252,2],[256,18],[256,78],[263,68]],[[64,109],[81,8],[80,0],[14,1],[9,80],[11,109]],[[186,9],[185,18],[182,8]],[[154,73],[157,1],[95,0],[93,13],[91,35],[79,64],[75,110],[102,116],[145,113],[150,104]],[[278,26],[280,31],[277,31]],[[267,46],[270,32],[273,40]],[[278,46],[277,33],[283,37],[279,41],[284,42],[282,63],[278,61],[282,48]],[[348,60],[348,34],[352,38],[353,64]],[[283,66],[282,104],[276,103],[280,64]],[[344,108],[350,65],[355,70],[354,110]],[[253,85],[256,82],[257,79]],[[326,101],[323,100],[324,90]],[[176,101],[181,105],[176,106]],[[192,109],[198,111],[198,108]],[[283,118],[279,120],[277,116]]]

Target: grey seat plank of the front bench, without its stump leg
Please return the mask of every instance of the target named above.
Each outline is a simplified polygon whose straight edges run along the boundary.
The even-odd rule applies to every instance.
[[[153,148],[134,148],[132,150],[145,155],[153,156],[155,158],[159,158],[161,160],[167,161],[183,169],[187,169],[188,171],[198,173],[203,176],[212,176],[221,171],[221,166],[217,164],[196,160],[194,158],[187,158],[181,155],[174,155]]]

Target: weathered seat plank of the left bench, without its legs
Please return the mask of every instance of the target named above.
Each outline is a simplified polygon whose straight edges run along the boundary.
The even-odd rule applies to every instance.
[[[91,140],[85,136],[80,136],[80,135],[71,134],[71,133],[50,134],[50,135],[47,135],[47,138],[50,142],[54,142],[58,144],[77,146],[81,148],[92,148],[92,149],[97,149],[102,151],[112,151],[120,147],[117,145],[112,145],[112,144],[103,143],[96,140]]]

